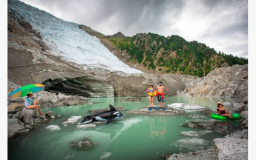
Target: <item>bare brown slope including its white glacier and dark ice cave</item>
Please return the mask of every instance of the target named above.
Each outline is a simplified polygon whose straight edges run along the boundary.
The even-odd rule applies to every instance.
[[[80,28],[21,1],[9,0],[8,79],[21,86],[45,84],[45,90],[52,93],[85,97],[147,96],[149,84],[158,81],[168,88],[167,96],[175,96],[189,79],[198,79],[156,76],[128,67],[99,39]],[[113,37],[124,36],[118,33]]]

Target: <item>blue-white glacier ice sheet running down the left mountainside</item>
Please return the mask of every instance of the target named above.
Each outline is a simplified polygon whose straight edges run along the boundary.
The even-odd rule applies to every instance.
[[[95,36],[79,29],[79,24],[64,21],[18,0],[9,0],[8,7],[38,30],[49,52],[65,61],[111,72],[142,73],[129,67],[111,53]]]

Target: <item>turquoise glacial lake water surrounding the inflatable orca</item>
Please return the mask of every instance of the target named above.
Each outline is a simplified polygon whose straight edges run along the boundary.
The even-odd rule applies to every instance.
[[[88,110],[108,107],[125,107],[134,110],[148,106],[148,98],[142,101],[121,102],[128,97],[92,98],[95,104],[76,105],[68,107],[42,108],[42,112],[53,111],[60,118],[39,124],[22,136],[8,139],[8,159],[161,159],[165,153],[186,153],[195,150],[212,148],[212,140],[226,135],[210,133],[207,136],[191,138],[180,135],[183,131],[199,131],[182,127],[189,115],[201,115],[198,111],[186,113],[183,116],[138,116],[126,113],[125,119],[111,124],[97,124],[94,128],[77,129],[76,124],[64,126],[62,121],[70,116],[86,116]],[[172,103],[198,104],[216,110],[218,101],[231,102],[232,99],[209,97],[165,97],[165,107]],[[154,99],[154,104],[158,104]],[[229,111],[229,107],[226,107]],[[211,116],[207,116],[211,119]],[[57,125],[61,130],[47,130],[49,125]],[[230,134],[235,136],[241,129],[234,121],[227,124]],[[75,150],[70,142],[79,141],[85,136],[91,136],[91,141],[99,142],[91,150]]]

